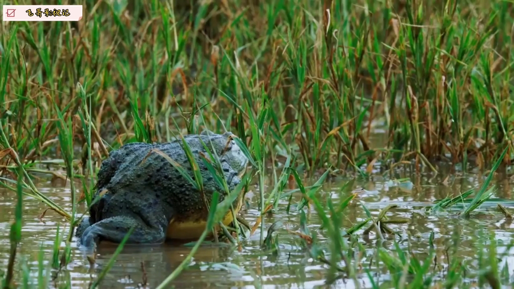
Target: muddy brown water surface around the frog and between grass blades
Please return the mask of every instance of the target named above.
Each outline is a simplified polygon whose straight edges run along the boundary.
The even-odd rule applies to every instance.
[[[332,198],[337,204],[343,200],[350,191],[358,192],[354,204],[346,208],[343,220],[343,227],[349,228],[365,218],[365,213],[360,206],[364,204],[376,216],[379,210],[389,204],[396,204],[399,207],[393,209],[388,216],[394,218],[409,219],[408,224],[390,225],[390,227],[402,233],[403,239],[409,238],[410,247],[414,254],[425,257],[428,250],[428,238],[430,233],[435,233],[434,244],[438,250],[438,261],[446,263],[444,251],[452,242],[451,235],[455,231],[460,233],[460,247],[458,254],[467,258],[476,256],[476,247],[472,241],[480,228],[486,228],[495,232],[495,238],[505,243],[512,239],[512,224],[506,222],[503,215],[495,209],[495,204],[485,204],[481,211],[484,214],[463,220],[452,218],[451,214],[445,213],[437,216],[428,215],[422,208],[434,200],[444,198],[447,195],[455,195],[474,186],[478,186],[484,180],[481,175],[452,174],[445,181],[447,173],[438,176],[424,175],[416,177],[415,174],[405,172],[394,175],[395,178],[409,178],[411,182],[395,184],[395,182],[382,178],[373,177],[371,180],[355,182],[349,190],[341,192],[341,186],[345,183],[343,179],[333,179],[331,183],[324,186],[319,197],[322,202],[326,198]],[[509,178],[499,175],[494,179],[499,190],[494,197],[514,200],[512,197],[512,182]],[[70,190],[68,186],[51,187],[50,183],[40,183],[40,190],[50,197],[54,202],[71,211]],[[246,219],[253,225],[258,218],[259,212],[255,207],[256,194],[249,194],[249,202],[253,205],[246,212]],[[9,222],[14,218],[14,195],[12,192],[0,191],[0,268],[6,268],[9,251]],[[307,252],[300,246],[297,237],[291,236],[285,230],[299,230],[299,214],[296,213],[295,204],[300,200],[299,195],[292,199],[293,206],[290,213],[285,212],[287,201],[281,203],[278,213],[267,215],[266,225],[275,221],[284,221],[284,227],[278,231],[280,240],[280,252],[278,256],[265,254],[259,246],[259,229],[253,234],[250,240],[246,241],[241,251],[231,246],[212,247],[204,246],[194,256],[192,264],[182,272],[173,282],[177,288],[201,288],[201,287],[223,287],[223,288],[313,288],[325,287],[327,267],[317,261],[313,261]],[[504,203],[506,207],[509,203]],[[44,222],[38,216],[45,209],[45,206],[31,198],[26,198],[24,203],[24,224],[21,244],[21,254],[27,256],[33,266],[33,272],[37,272],[37,256],[40,248],[45,251],[45,260],[51,260],[52,246],[57,232],[57,225],[61,224],[61,232],[66,224],[64,220],[49,211]],[[84,208],[80,207],[79,212]],[[514,211],[514,209],[513,209]],[[320,219],[314,210],[307,212],[307,221],[311,230],[320,225]],[[68,228],[64,231],[67,233]],[[265,232],[266,233],[266,232]],[[318,233],[318,239],[323,242],[326,236]],[[397,238],[397,240],[400,240]],[[60,273],[57,286],[70,282],[74,288],[87,288],[91,280],[97,277],[100,270],[106,265],[114,253],[115,247],[101,245],[98,249],[97,266],[91,268],[88,262],[82,257],[77,249],[77,244],[72,244],[73,262],[67,269]],[[408,244],[400,242],[400,246],[407,248]],[[376,247],[377,236],[372,232],[369,238],[359,237],[359,242],[369,249],[370,257],[373,256],[373,248]],[[64,245],[64,243],[63,243]],[[383,246],[393,248],[391,239]],[[498,251],[502,251],[502,243],[499,243]],[[111,271],[107,274],[102,288],[135,288],[142,283],[143,276],[148,279],[150,288],[159,284],[168,276],[174,268],[185,258],[190,247],[182,244],[164,244],[159,246],[126,246]],[[514,256],[514,255],[512,255]],[[514,268],[514,259],[507,258],[509,268]],[[470,262],[472,268],[473,263]],[[142,266],[143,265],[143,266]],[[476,264],[475,264],[476,265]],[[144,272],[143,274],[143,269]],[[376,268],[376,265],[374,265]],[[376,268],[377,277],[387,282],[387,275],[380,275],[385,272],[383,268]],[[368,287],[369,281],[365,273],[361,272],[359,280],[361,287]],[[34,277],[35,280],[35,277]],[[347,288],[355,287],[350,280],[338,281],[338,286]],[[345,283],[343,283],[345,282]]]

